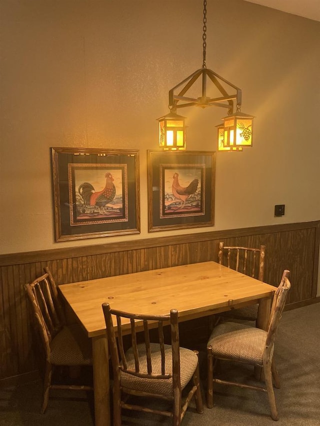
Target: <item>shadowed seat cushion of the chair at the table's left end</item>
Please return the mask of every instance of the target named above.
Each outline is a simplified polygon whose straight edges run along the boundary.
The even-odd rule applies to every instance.
[[[91,340],[80,326],[64,326],[51,342],[51,363],[55,365],[91,365]]]

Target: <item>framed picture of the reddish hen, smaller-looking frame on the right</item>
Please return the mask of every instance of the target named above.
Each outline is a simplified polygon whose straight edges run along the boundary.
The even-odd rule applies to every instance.
[[[214,224],[215,152],[148,151],[148,231]]]

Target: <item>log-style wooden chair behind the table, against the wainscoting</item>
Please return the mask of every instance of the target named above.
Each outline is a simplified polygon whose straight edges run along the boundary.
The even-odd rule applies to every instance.
[[[265,246],[252,247],[228,247],[219,243],[218,261],[220,265],[227,266],[242,274],[249,275],[259,281],[263,281]],[[258,305],[250,305],[244,308],[232,309],[222,312],[219,316],[223,319],[256,321]]]

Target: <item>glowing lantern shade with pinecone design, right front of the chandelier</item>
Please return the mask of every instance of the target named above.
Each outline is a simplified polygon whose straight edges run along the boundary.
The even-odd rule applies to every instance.
[[[229,148],[232,151],[239,151],[239,148],[243,146],[252,146],[253,118],[253,115],[244,114],[240,111],[222,118],[224,122],[222,150]],[[219,136],[218,140],[220,146],[221,139]]]

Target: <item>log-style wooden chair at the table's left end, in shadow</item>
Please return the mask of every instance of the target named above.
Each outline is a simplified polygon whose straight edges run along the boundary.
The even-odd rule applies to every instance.
[[[46,410],[50,389],[93,390],[91,386],[51,384],[55,366],[92,365],[91,345],[77,324],[66,325],[58,300],[55,282],[48,268],[24,288],[32,307],[35,327],[39,333],[38,351],[45,356],[43,400],[40,412]]]

